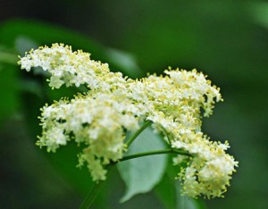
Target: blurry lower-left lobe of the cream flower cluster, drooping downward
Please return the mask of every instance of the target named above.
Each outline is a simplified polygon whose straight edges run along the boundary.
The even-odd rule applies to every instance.
[[[93,180],[105,180],[104,165],[122,157],[125,130],[138,129],[137,116],[131,109],[122,109],[121,98],[115,97],[104,93],[79,95],[44,106],[38,145],[54,152],[71,139],[83,143],[87,147],[80,155],[80,165],[87,162]]]

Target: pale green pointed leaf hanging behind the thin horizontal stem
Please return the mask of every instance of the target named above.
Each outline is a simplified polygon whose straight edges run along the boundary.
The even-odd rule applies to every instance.
[[[152,129],[147,129],[131,144],[127,155],[164,149],[164,147],[163,139],[156,135]],[[166,158],[166,155],[153,155],[118,163],[118,170],[127,187],[121,202],[154,188],[163,177]]]

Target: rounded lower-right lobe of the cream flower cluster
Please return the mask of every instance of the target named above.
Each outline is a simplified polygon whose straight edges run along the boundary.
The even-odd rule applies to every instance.
[[[205,136],[201,137],[197,136],[195,143],[183,147],[193,154],[193,157],[189,158],[188,168],[195,170],[191,175],[188,174],[187,169],[180,171],[183,194],[208,198],[222,196],[226,192],[227,186],[230,186],[231,175],[236,171],[235,167],[238,167],[238,162],[225,153],[226,146],[212,143]],[[178,143],[174,141],[172,145],[177,147]],[[197,146],[198,148],[196,148]]]

